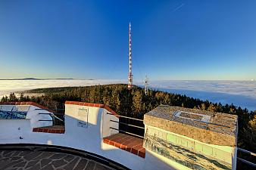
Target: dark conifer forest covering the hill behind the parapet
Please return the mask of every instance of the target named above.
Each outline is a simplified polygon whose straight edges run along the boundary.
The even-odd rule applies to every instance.
[[[161,104],[235,114],[239,116],[238,147],[256,152],[256,110],[248,111],[246,108],[236,107],[233,104],[211,103],[208,100],[199,100],[158,89],[150,89],[145,95],[143,88],[134,86],[129,90],[124,84],[39,88],[28,92],[40,95],[28,97],[20,94],[20,97],[16,97],[15,94],[10,94],[10,96],[2,97],[2,101],[34,101],[51,109],[63,109],[66,100],[106,104],[120,115],[138,119],[143,119],[145,113]]]

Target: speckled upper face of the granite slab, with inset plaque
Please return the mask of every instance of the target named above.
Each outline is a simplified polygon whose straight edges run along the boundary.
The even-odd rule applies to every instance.
[[[162,120],[175,122],[174,124],[189,125],[194,128],[201,128],[207,131],[214,131],[220,134],[227,134],[236,138],[238,116],[215,113],[205,110],[189,109],[185,107],[159,106],[146,113],[144,116],[145,125],[162,128]],[[159,121],[159,123],[157,123]],[[168,125],[165,125],[167,127]],[[189,127],[187,126],[187,127]],[[165,129],[168,130],[169,128]],[[171,129],[170,129],[171,130]],[[176,129],[176,131],[178,131]]]

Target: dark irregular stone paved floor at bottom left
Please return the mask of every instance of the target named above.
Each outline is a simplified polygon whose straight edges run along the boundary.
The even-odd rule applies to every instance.
[[[67,153],[0,150],[1,170],[113,170],[106,165]]]

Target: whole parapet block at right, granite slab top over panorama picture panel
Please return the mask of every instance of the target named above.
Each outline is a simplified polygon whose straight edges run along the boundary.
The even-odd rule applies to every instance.
[[[236,169],[238,117],[160,106],[144,116],[143,147],[192,169]]]

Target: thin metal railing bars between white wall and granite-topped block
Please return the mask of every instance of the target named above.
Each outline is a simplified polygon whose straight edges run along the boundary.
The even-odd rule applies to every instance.
[[[114,114],[112,114],[112,113],[107,113],[107,114],[114,116]],[[128,116],[121,116],[121,115],[118,115],[118,117],[125,118],[125,119],[133,119],[133,120],[136,120],[136,121],[143,122],[142,119],[136,119],[136,118],[128,117]],[[120,122],[120,121],[115,121],[115,120],[111,120],[111,122],[116,122],[116,123],[118,123],[118,124],[120,124],[120,125],[128,125],[128,126],[133,127],[133,128],[145,129],[144,127],[141,127],[141,126],[138,126],[138,125],[132,125],[132,124],[125,123],[125,122]],[[129,132],[129,131],[123,131],[123,130],[121,130],[120,128],[117,129],[117,128],[111,127],[111,129],[114,129],[114,130],[123,132],[123,133],[125,133],[125,134],[131,134],[131,135],[136,136],[136,137],[139,137],[139,138],[144,138],[144,136],[141,136],[141,135],[139,135],[139,134],[134,134],[134,133],[131,133],[131,132]]]

